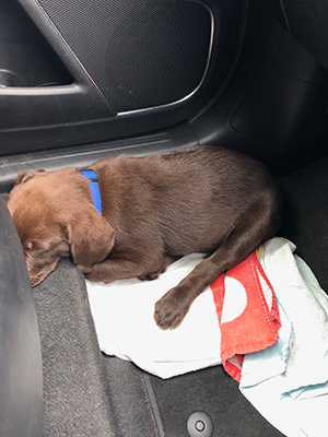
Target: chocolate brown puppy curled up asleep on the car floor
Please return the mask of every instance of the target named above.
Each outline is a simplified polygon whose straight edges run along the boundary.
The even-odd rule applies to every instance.
[[[69,256],[90,281],[112,282],[155,279],[179,257],[211,253],[156,303],[163,329],[178,326],[206,286],[272,237],[282,221],[268,169],[229,149],[119,155],[89,168],[97,175],[102,215],[78,168],[19,176],[8,208],[31,283]]]

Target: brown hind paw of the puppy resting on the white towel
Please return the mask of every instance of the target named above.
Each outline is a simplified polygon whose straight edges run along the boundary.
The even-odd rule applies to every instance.
[[[171,290],[155,304],[155,322],[162,329],[176,328],[184,320],[188,308]]]

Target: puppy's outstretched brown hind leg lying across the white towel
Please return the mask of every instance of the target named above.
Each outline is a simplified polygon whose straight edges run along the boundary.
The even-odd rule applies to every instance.
[[[282,209],[276,186],[263,191],[232,226],[225,241],[155,305],[155,321],[162,329],[176,328],[195,298],[227,269],[243,261],[281,226]]]

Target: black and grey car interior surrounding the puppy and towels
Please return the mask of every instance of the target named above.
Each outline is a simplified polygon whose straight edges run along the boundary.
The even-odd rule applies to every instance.
[[[327,292],[327,19],[319,0],[1,1],[1,436],[283,435],[222,366],[161,379],[103,354],[71,259],[31,287],[5,197],[27,169],[234,149],[279,180],[279,236]]]

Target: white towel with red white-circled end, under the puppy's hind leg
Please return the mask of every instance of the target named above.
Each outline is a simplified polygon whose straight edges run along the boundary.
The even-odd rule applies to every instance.
[[[244,354],[273,344],[280,327],[274,293],[256,252],[208,287],[178,328],[163,331],[153,319],[155,303],[202,259],[201,253],[184,257],[151,282],[86,281],[101,350],[161,378],[223,362],[239,380]]]

